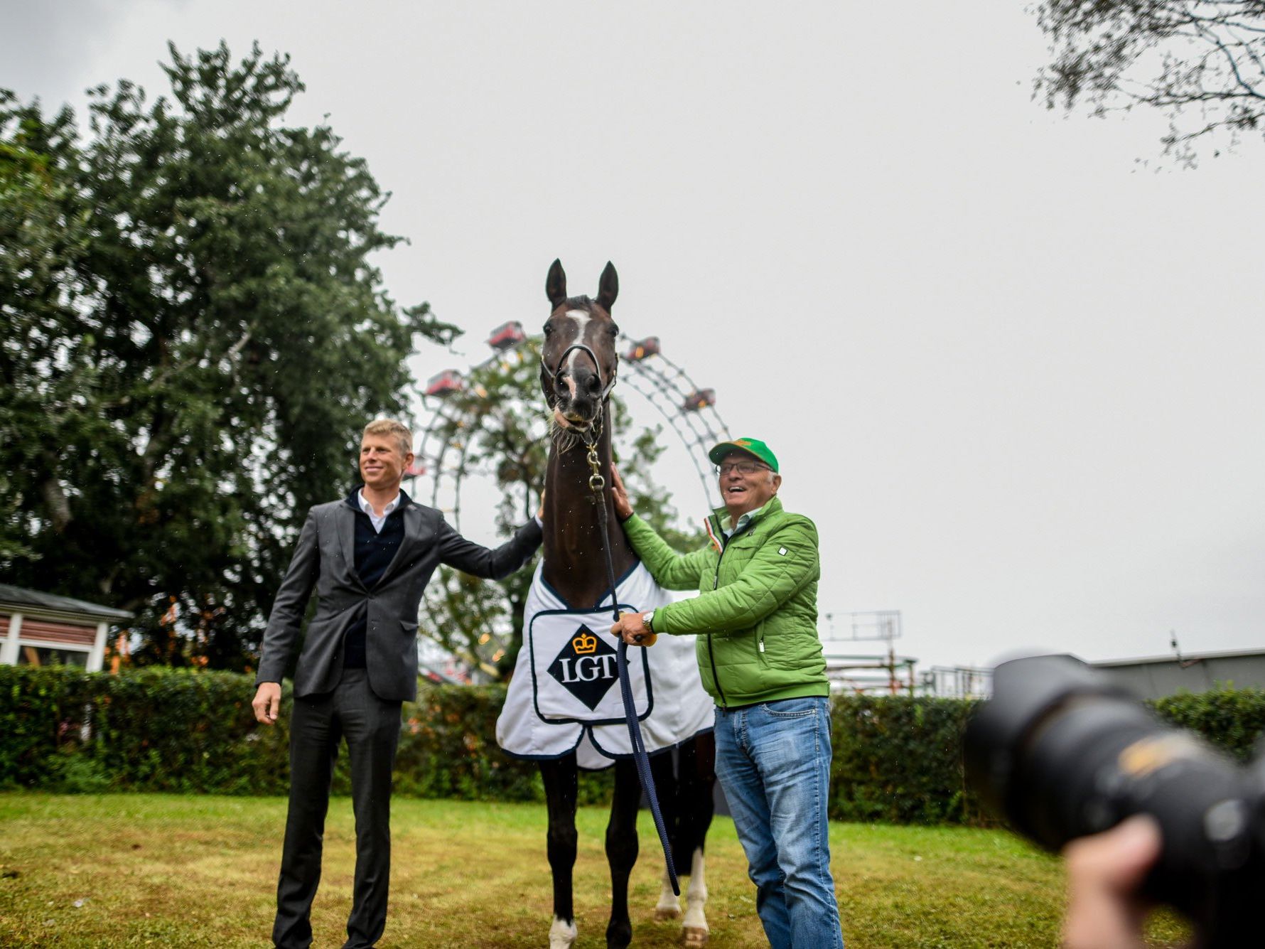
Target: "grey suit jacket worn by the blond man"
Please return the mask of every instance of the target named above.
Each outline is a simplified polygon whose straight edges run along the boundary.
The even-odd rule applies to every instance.
[[[447,563],[488,580],[507,577],[540,545],[535,520],[491,550],[458,534],[433,507],[411,501],[404,509],[404,540],[371,592],[355,572],[355,511],[347,501],[319,504],[307,512],[293,559],[272,602],[256,683],[280,682],[299,639],[307,599],[316,591],[316,615],[307,624],[295,696],[329,692],[343,676],[343,636],[357,619],[367,621],[366,664],[379,698],[417,696],[417,606],[435,567]]]

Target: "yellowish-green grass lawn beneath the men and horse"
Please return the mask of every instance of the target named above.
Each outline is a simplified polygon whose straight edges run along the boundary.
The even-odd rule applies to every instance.
[[[0,945],[266,946],[272,925],[281,798],[167,795],[0,795]],[[634,945],[676,946],[655,922],[659,853],[643,812],[632,876]],[[603,946],[606,812],[579,815],[579,946]],[[550,920],[540,805],[393,802],[391,912],[381,949],[543,946]],[[312,912],[318,946],[342,944],[350,906],[350,801],[331,803]],[[831,826],[835,883],[850,949],[1052,946],[1059,862],[1003,831]],[[707,840],[715,946],[767,945],[729,819]],[[1156,945],[1183,931],[1152,924]]]

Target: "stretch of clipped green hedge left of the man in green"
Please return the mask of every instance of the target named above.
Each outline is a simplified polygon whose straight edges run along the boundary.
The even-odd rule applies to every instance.
[[[253,697],[253,679],[230,672],[0,666],[0,787],[283,795],[290,685],[271,728],[256,723]],[[404,707],[396,792],[544,800],[536,767],[496,747],[503,701],[503,686],[424,687]],[[344,749],[334,792],[349,791]],[[608,800],[610,791],[608,773],[581,778],[582,803]]]

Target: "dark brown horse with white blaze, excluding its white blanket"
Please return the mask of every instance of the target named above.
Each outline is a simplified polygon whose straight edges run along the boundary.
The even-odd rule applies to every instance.
[[[619,371],[615,340],[619,328],[611,306],[619,294],[619,278],[610,263],[602,271],[597,299],[567,296],[567,275],[554,261],[545,280],[552,313],[545,323],[540,386],[553,412],[553,443],[545,475],[544,562],[541,578],[568,604],[596,606],[610,591],[605,544],[616,577],[636,564],[615,518],[608,491],[595,500],[587,443],[596,440],[598,466],[606,483],[611,467],[611,414],[607,399]],[[597,504],[606,505],[606,531],[601,531]],[[673,760],[676,758],[676,762]],[[572,906],[572,872],[576,864],[577,759],[541,760],[549,807],[549,867],[553,871],[554,920],[549,930],[552,949],[565,949],[576,940]],[[674,767],[676,773],[674,773]],[[712,817],[715,743],[710,731],[684,740],[674,753],[651,758],[651,769],[672,840],[676,867],[688,873],[683,920],[687,945],[707,940],[703,902],[703,838]],[[615,763],[615,795],[606,828],[606,858],[611,867],[611,917],[607,946],[626,946],[632,939],[629,919],[629,874],[638,858],[636,812],[641,786],[629,758]],[[658,843],[658,841],[657,841]],[[658,845],[654,857],[659,859]],[[655,907],[659,919],[677,916],[681,907],[667,884]]]

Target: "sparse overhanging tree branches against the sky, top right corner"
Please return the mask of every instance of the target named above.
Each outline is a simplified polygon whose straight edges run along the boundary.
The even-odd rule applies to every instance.
[[[1165,152],[1187,163],[1265,130],[1265,0],[1045,0],[1037,15],[1049,106],[1157,109]]]

